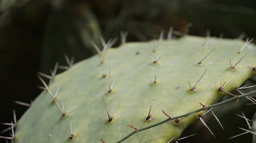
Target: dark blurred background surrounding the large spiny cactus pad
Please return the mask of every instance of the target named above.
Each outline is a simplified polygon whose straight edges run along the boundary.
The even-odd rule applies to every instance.
[[[256,35],[256,1],[0,0],[0,122],[12,120],[12,109],[16,110],[17,118],[21,117],[27,107],[13,101],[30,103],[34,100],[41,92],[36,87],[39,85],[37,72],[49,75],[49,69],[54,68],[56,61],[67,65],[65,54],[70,58],[74,56],[75,62],[79,62],[97,53],[91,41],[102,46],[99,37],[106,41],[118,38],[113,45],[118,47],[121,31],[128,32],[128,42],[148,41],[160,31],[165,31],[166,37],[170,26],[174,27],[174,35],[180,37],[180,32],[188,24],[192,24],[187,32],[190,35],[206,36],[206,31],[210,30],[210,35],[216,37],[238,38],[244,35],[241,36],[243,39],[252,38]],[[58,70],[58,73],[62,71]],[[256,111],[254,105],[242,109],[247,111],[248,118]],[[218,123],[212,120],[212,116],[208,117],[212,123],[210,128],[218,133],[217,139],[212,138],[200,123],[195,123],[184,135],[195,132],[198,135],[180,140],[180,143],[250,142],[250,134],[227,140],[241,133],[236,126],[245,124],[234,114],[240,110],[228,110],[230,118],[224,121],[226,132],[216,127]],[[223,118],[227,114],[225,111],[218,113]],[[7,127],[0,126],[0,130]],[[8,136],[8,133],[2,135]]]

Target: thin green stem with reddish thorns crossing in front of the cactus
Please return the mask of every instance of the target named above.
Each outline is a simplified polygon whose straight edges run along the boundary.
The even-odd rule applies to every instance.
[[[209,105],[209,106],[207,106],[206,108],[207,108],[207,109],[211,109],[211,108],[214,108],[214,107],[217,107],[217,106],[220,106],[220,105],[229,103],[229,102],[231,102],[231,101],[234,101],[234,100],[236,100],[236,99],[243,98],[243,97],[249,96],[249,95],[253,95],[253,94],[255,94],[255,93],[256,93],[256,90],[253,91],[253,92],[250,92],[250,93],[243,94],[243,95],[238,95],[238,96],[236,96],[236,97],[230,98],[230,99],[228,99],[228,100],[226,100],[226,101],[219,102],[219,103],[217,103],[217,104]],[[153,128],[153,127],[155,127],[155,126],[158,126],[158,125],[161,125],[161,124],[163,124],[163,123],[166,123],[167,121],[171,121],[171,120],[174,120],[174,119],[186,117],[186,116],[188,116],[188,115],[190,115],[190,114],[194,114],[194,113],[200,112],[200,111],[202,111],[202,110],[204,110],[204,109],[203,109],[203,108],[200,108],[200,109],[197,109],[197,110],[195,110],[195,111],[192,111],[192,112],[189,112],[189,113],[180,115],[180,116],[176,116],[176,117],[173,117],[173,118],[167,118],[166,120],[160,121],[160,122],[155,123],[155,124],[153,124],[153,125],[146,126],[146,127],[144,127],[144,128],[141,128],[141,129],[137,129],[137,130],[131,132],[131,133],[130,133],[129,135],[127,135],[126,137],[122,138],[122,140],[117,141],[116,143],[121,143],[122,141],[128,139],[128,137],[131,137],[132,135],[134,135],[134,134],[137,133],[137,132],[144,131],[144,130],[149,129],[149,128]]]

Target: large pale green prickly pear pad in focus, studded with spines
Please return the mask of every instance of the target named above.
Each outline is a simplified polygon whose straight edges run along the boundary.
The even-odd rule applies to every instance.
[[[73,65],[49,87],[53,97],[59,87],[60,107],[42,92],[18,121],[14,143],[116,143],[134,130],[211,105],[254,75],[255,46],[238,39],[204,42],[184,36],[125,43]],[[124,143],[176,140],[201,115],[137,132]]]

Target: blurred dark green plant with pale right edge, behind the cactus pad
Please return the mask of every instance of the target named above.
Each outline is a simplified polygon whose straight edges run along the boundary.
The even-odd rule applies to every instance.
[[[67,65],[64,54],[81,61],[97,53],[91,41],[100,46],[101,30],[86,3],[71,3],[53,11],[47,18],[41,50],[41,68],[49,73],[56,61]]]

